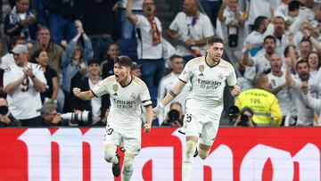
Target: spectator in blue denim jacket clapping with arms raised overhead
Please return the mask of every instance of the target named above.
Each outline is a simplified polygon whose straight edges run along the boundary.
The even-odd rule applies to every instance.
[[[76,25],[78,34],[70,41],[62,59],[62,90],[65,95],[63,111],[65,112],[73,111],[70,103],[73,95],[70,91],[73,87],[80,85],[81,78],[86,76],[86,63],[94,56],[93,46],[82,28],[82,23],[76,21]],[[84,49],[77,45],[80,37],[84,38]]]

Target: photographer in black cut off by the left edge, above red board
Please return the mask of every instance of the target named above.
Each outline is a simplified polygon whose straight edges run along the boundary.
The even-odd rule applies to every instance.
[[[21,127],[21,122],[9,112],[8,102],[4,98],[0,98],[0,127]]]

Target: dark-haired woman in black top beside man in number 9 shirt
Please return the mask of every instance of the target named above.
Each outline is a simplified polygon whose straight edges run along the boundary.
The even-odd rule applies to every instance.
[[[33,60],[36,61],[44,71],[47,86],[45,93],[41,93],[41,102],[57,103],[58,90],[60,88],[57,72],[49,65],[49,57],[45,50],[37,50],[33,54]]]

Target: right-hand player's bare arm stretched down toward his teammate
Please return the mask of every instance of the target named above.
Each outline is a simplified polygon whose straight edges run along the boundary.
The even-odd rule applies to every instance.
[[[168,103],[170,103],[177,95],[179,95],[182,92],[185,84],[186,84],[185,82],[179,80],[179,81],[177,81],[177,83],[174,86],[172,86],[169,93],[152,110],[152,112],[154,114],[154,119],[156,119],[156,117],[161,113],[161,111],[164,109],[164,107]]]

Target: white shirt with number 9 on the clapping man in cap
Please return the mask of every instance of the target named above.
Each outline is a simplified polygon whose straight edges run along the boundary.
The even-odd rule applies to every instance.
[[[36,63],[28,63],[28,67],[32,68],[32,73],[41,82],[46,84],[44,71],[41,66]],[[12,64],[4,70],[4,87],[12,82],[17,81],[23,76],[23,68]],[[40,93],[35,87],[31,78],[25,78],[11,94],[7,95],[9,103],[9,111],[16,119],[31,119],[40,116],[42,107]]]

